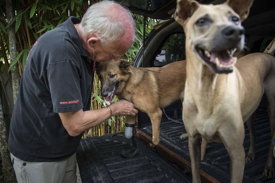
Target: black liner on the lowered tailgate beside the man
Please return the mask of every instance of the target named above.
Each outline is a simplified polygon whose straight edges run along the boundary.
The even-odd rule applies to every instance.
[[[192,182],[188,169],[181,170],[138,139],[138,154],[122,157],[119,152],[130,151],[130,143],[120,134],[82,139],[76,152],[82,183]]]

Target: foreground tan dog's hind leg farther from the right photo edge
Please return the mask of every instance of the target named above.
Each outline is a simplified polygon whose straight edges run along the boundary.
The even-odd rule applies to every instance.
[[[254,118],[255,118],[255,112],[248,118],[246,121],[246,125],[248,126],[249,130],[249,137],[250,137],[250,145],[248,153],[245,157],[245,163],[249,163],[254,161],[255,158],[255,143],[256,143],[256,134],[254,130]]]

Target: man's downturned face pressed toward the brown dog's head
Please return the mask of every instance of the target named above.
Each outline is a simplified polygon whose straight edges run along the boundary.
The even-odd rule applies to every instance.
[[[131,46],[131,45],[130,45]],[[92,60],[102,62],[106,60],[119,60],[130,48],[129,44],[124,44],[122,41],[115,41],[109,44],[97,42],[92,51]]]

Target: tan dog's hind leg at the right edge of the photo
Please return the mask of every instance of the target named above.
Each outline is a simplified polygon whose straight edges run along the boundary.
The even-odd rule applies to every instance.
[[[274,178],[274,157],[272,152],[272,138],[275,131],[275,91],[266,91],[266,98],[268,100],[268,115],[270,121],[270,130],[271,130],[271,141],[268,149],[268,158],[266,166],[263,172],[267,178]]]

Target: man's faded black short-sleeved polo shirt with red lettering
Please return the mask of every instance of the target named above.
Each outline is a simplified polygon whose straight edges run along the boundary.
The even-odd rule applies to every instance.
[[[33,45],[20,81],[9,133],[9,151],[24,161],[52,162],[73,155],[72,137],[58,113],[90,110],[94,63],[69,17]]]

